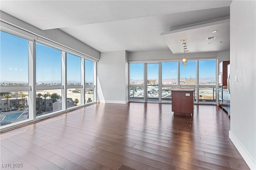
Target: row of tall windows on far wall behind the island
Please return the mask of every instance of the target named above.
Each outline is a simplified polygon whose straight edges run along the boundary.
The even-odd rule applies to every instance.
[[[216,104],[215,75],[216,59],[130,63],[130,101],[171,102],[172,88],[194,88],[194,103]]]

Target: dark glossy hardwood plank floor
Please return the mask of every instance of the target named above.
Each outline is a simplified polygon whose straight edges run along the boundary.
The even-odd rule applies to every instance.
[[[190,117],[170,104],[94,104],[18,127],[1,133],[1,169],[248,170],[227,113],[194,107]]]

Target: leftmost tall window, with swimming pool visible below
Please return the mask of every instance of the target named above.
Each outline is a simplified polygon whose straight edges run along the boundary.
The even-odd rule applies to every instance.
[[[28,119],[28,43],[0,32],[0,125]]]

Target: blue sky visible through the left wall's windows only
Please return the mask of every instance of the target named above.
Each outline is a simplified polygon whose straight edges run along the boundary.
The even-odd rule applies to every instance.
[[[1,31],[0,80],[28,82],[28,41]],[[81,80],[81,58],[67,54],[67,81]],[[86,81],[93,82],[93,62],[85,61]],[[61,81],[61,51],[36,43],[36,82]]]

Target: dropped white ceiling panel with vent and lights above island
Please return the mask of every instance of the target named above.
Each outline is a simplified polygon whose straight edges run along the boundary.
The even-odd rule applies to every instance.
[[[193,26],[174,29],[161,33],[173,54],[183,51],[182,43],[186,43],[186,53],[206,51],[226,51],[230,46],[230,20],[221,18],[218,21],[197,23]],[[213,33],[212,31],[217,31]],[[215,39],[208,39],[215,37]],[[187,41],[180,42],[186,39]]]

